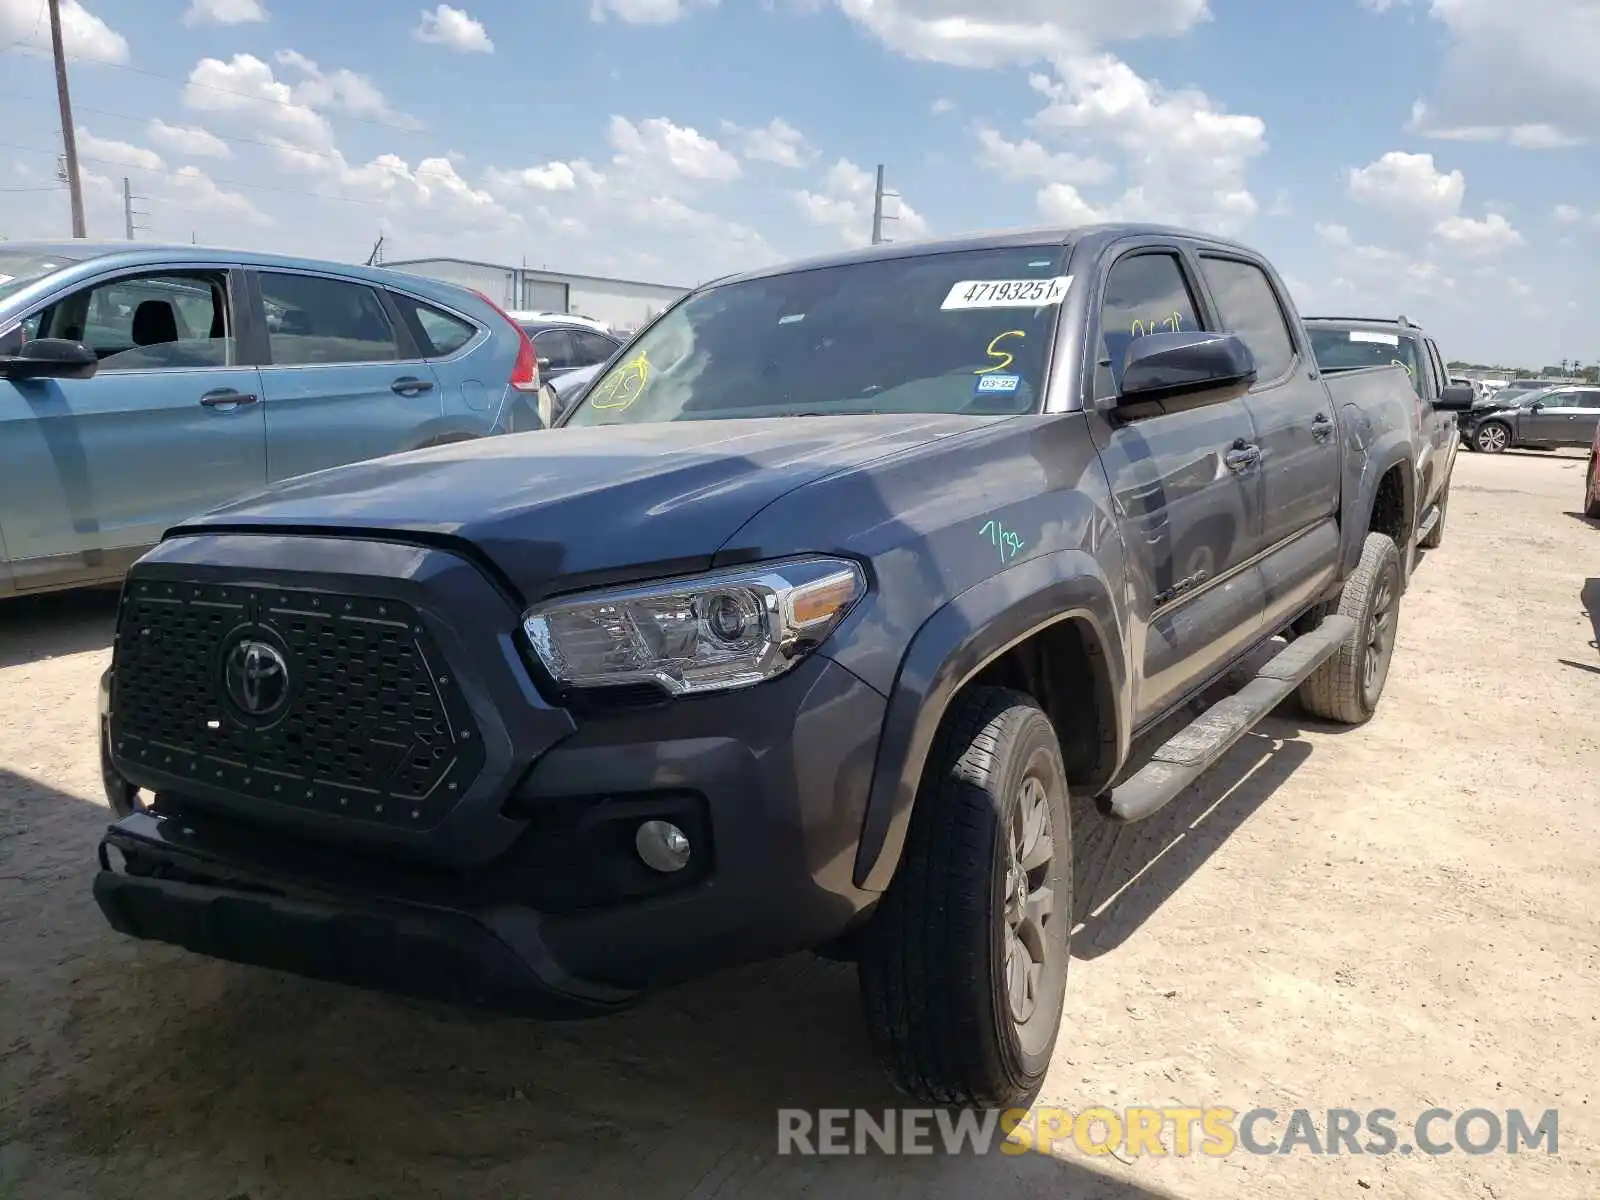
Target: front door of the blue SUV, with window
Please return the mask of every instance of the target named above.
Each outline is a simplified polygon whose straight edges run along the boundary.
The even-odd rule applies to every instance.
[[[261,378],[237,365],[234,277],[118,275],[30,314],[90,379],[0,381],[0,514],[19,590],[115,578],[189,517],[266,483]]]

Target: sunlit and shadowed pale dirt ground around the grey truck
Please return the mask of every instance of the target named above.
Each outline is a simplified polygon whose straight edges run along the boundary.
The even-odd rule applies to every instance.
[[[1290,707],[1144,826],[1078,813],[1042,1104],[1560,1112],[1517,1157],[779,1157],[894,1104],[810,955],[603,1022],[483,1018],[112,934],[114,597],[0,605],[0,1200],[1600,1195],[1600,522],[1573,454],[1462,454],[1378,717]],[[1448,1128],[1448,1126],[1446,1126]]]

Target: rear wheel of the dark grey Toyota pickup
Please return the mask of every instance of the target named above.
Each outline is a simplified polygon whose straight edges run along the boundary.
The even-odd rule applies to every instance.
[[[1362,562],[1339,594],[1336,613],[1355,621],[1344,645],[1299,686],[1312,717],[1360,725],[1371,718],[1389,678],[1400,622],[1400,547],[1386,533],[1368,533]]]

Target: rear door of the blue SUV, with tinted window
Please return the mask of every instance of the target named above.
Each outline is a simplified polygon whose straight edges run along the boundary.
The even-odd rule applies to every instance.
[[[442,414],[438,379],[378,288],[258,270],[267,472],[282,480],[411,450]]]

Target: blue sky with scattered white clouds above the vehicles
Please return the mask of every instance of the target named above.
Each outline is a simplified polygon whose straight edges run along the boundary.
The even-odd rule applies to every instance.
[[[62,0],[91,237],[694,283],[1158,219],[1306,312],[1600,360],[1592,0]],[[61,235],[45,0],[0,0],[0,234]]]

